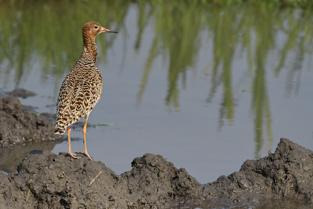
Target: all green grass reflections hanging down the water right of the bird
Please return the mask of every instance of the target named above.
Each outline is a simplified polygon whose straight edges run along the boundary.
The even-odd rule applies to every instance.
[[[230,1],[231,2],[231,1]],[[297,1],[300,5],[301,1]],[[233,5],[232,7],[217,7],[203,1],[203,4],[192,1],[158,1],[147,2],[146,6],[139,4],[139,19],[146,13],[142,8],[150,8],[144,19],[155,20],[155,37],[151,43],[150,55],[142,76],[137,102],[141,102],[147,84],[153,60],[160,54],[169,60],[168,91],[165,104],[179,108],[179,89],[177,82],[181,81],[186,87],[186,71],[192,69],[198,59],[201,42],[201,32],[208,30],[213,38],[213,66],[211,87],[206,99],[211,102],[217,87],[223,86],[223,100],[220,106],[218,129],[224,120],[233,121],[235,104],[232,85],[232,63],[235,50],[241,48],[246,51],[249,64],[248,75],[251,82],[251,110],[254,112],[255,158],[259,158],[260,150],[266,138],[269,150],[273,143],[272,116],[266,85],[266,74],[278,76],[282,67],[286,65],[288,53],[294,56],[294,66],[287,76],[285,91],[298,92],[302,62],[305,53],[312,51],[312,14],[310,9],[295,9],[271,1],[253,1],[252,4]],[[223,4],[223,1],[220,1]],[[224,2],[225,3],[225,2]],[[285,2],[291,5],[292,3]],[[296,5],[296,4],[295,4]],[[295,6],[294,5],[294,6]],[[152,17],[151,17],[152,16]],[[142,22],[139,28],[144,28]],[[142,30],[136,43],[140,43]],[[282,47],[278,44],[278,33],[286,37]],[[138,44],[136,44],[138,46]],[[138,50],[138,48],[136,48]],[[297,51],[294,54],[294,51]],[[266,72],[265,66],[271,53],[279,58],[274,62],[273,71]],[[295,86],[292,85],[296,80]],[[291,85],[290,85],[291,84]],[[230,123],[232,124],[232,123]],[[265,137],[264,137],[265,135]]]

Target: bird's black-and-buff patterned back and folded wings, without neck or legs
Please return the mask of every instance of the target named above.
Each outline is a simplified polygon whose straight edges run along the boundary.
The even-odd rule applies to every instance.
[[[90,113],[101,93],[102,76],[97,68],[70,71],[60,89],[54,133],[63,134],[66,127]]]

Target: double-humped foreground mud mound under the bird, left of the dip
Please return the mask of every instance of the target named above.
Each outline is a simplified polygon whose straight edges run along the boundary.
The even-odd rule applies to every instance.
[[[33,150],[18,166],[18,175],[10,178],[24,199],[30,188],[28,205],[37,208],[159,208],[199,198],[201,185],[160,155],[145,154],[132,165],[131,171],[116,175],[85,156],[72,159],[65,153]],[[23,198],[13,193],[7,204],[26,205]]]

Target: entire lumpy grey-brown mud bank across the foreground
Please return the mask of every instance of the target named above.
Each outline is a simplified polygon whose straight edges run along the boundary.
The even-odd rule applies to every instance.
[[[31,151],[18,165],[18,174],[0,172],[0,207],[225,208],[286,198],[300,205],[313,200],[313,152],[285,138],[274,154],[247,160],[239,172],[206,185],[161,155],[137,157],[131,171],[121,175],[78,155],[72,159],[66,153]]]

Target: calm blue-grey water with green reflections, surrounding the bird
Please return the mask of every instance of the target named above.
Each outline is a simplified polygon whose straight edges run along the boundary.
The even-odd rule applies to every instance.
[[[35,92],[21,102],[38,112],[56,112],[85,22],[119,32],[96,37],[104,85],[88,120],[115,125],[87,129],[88,153],[117,174],[153,153],[207,183],[274,152],[281,137],[313,149],[309,10],[176,1],[2,4],[0,87]],[[81,138],[72,150],[83,151],[81,130],[71,136]],[[52,151],[66,152],[67,142]]]

